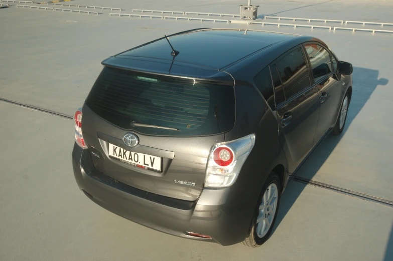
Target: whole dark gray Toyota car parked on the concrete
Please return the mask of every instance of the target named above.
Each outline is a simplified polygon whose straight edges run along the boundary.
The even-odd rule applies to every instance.
[[[339,135],[352,65],[319,39],[196,29],[109,57],[74,115],[72,164],[98,205],[203,241],[263,244],[288,180]]]

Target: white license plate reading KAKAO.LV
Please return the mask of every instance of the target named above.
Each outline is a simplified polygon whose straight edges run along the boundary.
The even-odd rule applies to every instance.
[[[111,143],[109,143],[109,156],[140,168],[161,171],[160,157],[128,151]]]

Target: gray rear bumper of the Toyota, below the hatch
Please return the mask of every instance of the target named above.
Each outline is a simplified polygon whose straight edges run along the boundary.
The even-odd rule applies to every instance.
[[[98,205],[124,218],[168,234],[222,245],[238,243],[246,237],[255,204],[249,200],[250,194],[241,193],[238,188],[204,189],[196,201],[171,199],[127,186],[98,172],[88,150],[76,144],[72,164],[82,191]],[[212,239],[189,236],[186,232]]]

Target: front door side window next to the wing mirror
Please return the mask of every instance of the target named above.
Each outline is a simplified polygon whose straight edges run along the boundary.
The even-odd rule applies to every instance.
[[[317,44],[308,44],[305,45],[305,48],[310,59],[314,81],[318,82],[332,72],[330,54],[325,48]]]

